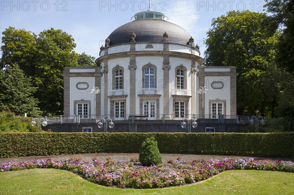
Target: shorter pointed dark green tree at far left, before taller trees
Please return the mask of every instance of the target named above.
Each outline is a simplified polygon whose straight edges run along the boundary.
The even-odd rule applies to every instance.
[[[11,110],[17,115],[28,113],[30,116],[40,116],[39,102],[33,97],[35,91],[31,79],[18,65],[12,64],[0,70],[0,110]]]

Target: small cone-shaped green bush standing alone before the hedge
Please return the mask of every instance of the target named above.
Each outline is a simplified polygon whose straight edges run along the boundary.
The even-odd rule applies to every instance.
[[[158,165],[162,163],[162,157],[154,137],[147,138],[141,146],[139,161],[144,166]]]

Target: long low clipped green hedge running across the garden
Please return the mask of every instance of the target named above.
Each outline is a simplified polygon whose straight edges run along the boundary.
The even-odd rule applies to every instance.
[[[0,157],[139,152],[154,136],[161,153],[294,158],[294,132],[281,133],[0,133]]]

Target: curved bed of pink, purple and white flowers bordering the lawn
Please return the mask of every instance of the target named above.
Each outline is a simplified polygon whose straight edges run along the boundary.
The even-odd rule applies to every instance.
[[[179,159],[180,160],[180,159]],[[195,159],[185,162],[171,160],[157,166],[143,167],[138,162],[82,161],[80,158],[64,160],[41,159],[36,161],[2,163],[0,172],[34,168],[54,168],[81,174],[85,179],[103,186],[120,188],[164,188],[205,180],[226,170],[265,170],[291,172],[293,162],[282,160]]]

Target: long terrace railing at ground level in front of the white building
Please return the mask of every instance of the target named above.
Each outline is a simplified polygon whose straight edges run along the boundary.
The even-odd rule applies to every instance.
[[[212,114],[155,114],[150,119],[149,115],[125,114],[116,118],[115,115],[72,115],[72,116],[57,116],[47,117],[48,124],[63,124],[63,123],[98,123],[101,118],[111,118],[114,123],[180,123],[183,119],[195,119],[197,123],[209,124],[248,124],[252,116],[239,115],[215,115]]]

